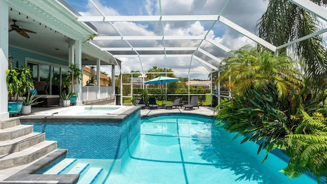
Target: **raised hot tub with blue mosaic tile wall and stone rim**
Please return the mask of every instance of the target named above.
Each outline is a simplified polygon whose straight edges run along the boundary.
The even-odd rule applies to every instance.
[[[141,107],[71,106],[20,117],[20,122],[44,132],[59,149],[68,149],[67,158],[79,153],[77,158],[121,159],[141,130]]]

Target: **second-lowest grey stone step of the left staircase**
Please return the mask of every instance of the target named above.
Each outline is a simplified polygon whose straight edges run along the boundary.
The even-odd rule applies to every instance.
[[[12,140],[0,142],[0,155],[22,151],[45,140],[45,133],[32,132]]]

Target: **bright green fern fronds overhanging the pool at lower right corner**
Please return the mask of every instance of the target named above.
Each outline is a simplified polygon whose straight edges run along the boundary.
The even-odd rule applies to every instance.
[[[294,134],[285,136],[282,149],[291,159],[282,172],[294,178],[311,171],[320,181],[327,174],[327,100],[312,116],[304,110],[301,113],[303,121]]]

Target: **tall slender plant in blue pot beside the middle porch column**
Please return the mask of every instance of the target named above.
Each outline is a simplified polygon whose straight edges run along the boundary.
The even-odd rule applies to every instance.
[[[78,64],[71,63],[69,65],[67,81],[71,85],[70,100],[72,104],[76,104],[77,96],[75,94],[75,84],[79,84],[82,81],[83,71],[80,70]],[[67,95],[67,94],[66,94]]]

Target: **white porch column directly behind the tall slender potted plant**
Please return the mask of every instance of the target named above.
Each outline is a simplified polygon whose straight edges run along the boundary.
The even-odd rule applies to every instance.
[[[83,71],[82,67],[82,41],[75,41],[75,64],[78,64],[80,70]],[[82,82],[76,84],[75,93],[77,96],[76,105],[82,105]]]

